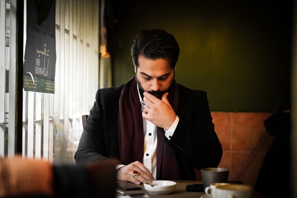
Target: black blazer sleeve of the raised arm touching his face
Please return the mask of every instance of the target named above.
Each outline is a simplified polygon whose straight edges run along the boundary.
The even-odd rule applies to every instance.
[[[179,122],[167,143],[189,167],[198,170],[217,167],[222,158],[222,145],[214,131],[207,94],[201,90],[181,90]]]

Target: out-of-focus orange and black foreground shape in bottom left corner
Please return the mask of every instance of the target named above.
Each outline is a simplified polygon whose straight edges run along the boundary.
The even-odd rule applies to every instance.
[[[115,197],[113,160],[53,165],[22,156],[0,157],[0,197]]]

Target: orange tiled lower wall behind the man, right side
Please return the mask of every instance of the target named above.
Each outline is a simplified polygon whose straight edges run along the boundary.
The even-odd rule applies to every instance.
[[[254,186],[262,161],[274,139],[266,132],[264,120],[271,113],[211,112],[215,131],[222,143],[218,167],[230,169],[228,180]],[[202,180],[196,170],[197,180]]]

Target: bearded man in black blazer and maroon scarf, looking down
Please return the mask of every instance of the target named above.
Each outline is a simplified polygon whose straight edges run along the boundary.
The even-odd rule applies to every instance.
[[[195,180],[194,168],[217,167],[222,157],[205,91],[176,83],[179,46],[164,30],[133,40],[135,77],[97,91],[77,164],[119,160],[119,181]]]

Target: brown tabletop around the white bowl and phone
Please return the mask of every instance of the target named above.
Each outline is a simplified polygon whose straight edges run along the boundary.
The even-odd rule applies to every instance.
[[[117,189],[121,192],[124,192],[126,195],[127,194],[138,194],[138,193],[145,193],[147,195],[149,195],[151,198],[157,198],[157,197],[167,197],[167,198],[174,198],[174,197],[183,197],[183,198],[191,198],[191,197],[195,197],[195,198],[200,198],[201,195],[205,194],[204,192],[187,192],[186,191],[186,186],[187,185],[191,185],[191,184],[195,184],[195,183],[199,183],[202,184],[202,181],[185,181],[185,180],[175,180],[176,182],[176,189],[173,191],[173,193],[171,194],[166,194],[166,195],[153,195],[153,194],[149,194],[143,187],[143,184],[140,185],[135,185],[135,186],[139,186],[141,187],[141,190],[135,190],[135,191],[124,191],[121,189]],[[127,196],[116,196],[116,198],[124,198]]]

